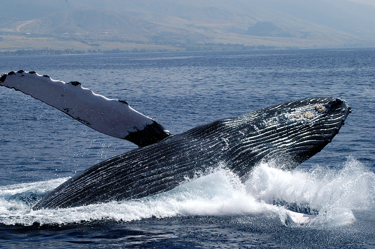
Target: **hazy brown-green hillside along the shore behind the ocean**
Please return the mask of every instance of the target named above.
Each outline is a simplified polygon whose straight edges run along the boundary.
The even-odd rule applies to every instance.
[[[0,16],[3,51],[86,51],[93,46],[184,50],[228,43],[277,48],[375,46],[375,6],[347,0],[14,0],[11,4],[0,0],[0,4],[8,10]]]

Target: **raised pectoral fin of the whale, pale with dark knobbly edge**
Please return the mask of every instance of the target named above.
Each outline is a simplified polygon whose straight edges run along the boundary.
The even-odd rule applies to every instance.
[[[98,95],[78,81],[65,83],[48,75],[20,70],[2,74],[0,86],[26,93],[99,132],[140,147],[170,135],[161,124],[134,110],[126,101]]]

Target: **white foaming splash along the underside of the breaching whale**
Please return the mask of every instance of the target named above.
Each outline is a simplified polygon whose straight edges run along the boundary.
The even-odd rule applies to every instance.
[[[355,222],[353,211],[370,210],[375,200],[375,174],[351,157],[341,169],[314,166],[310,171],[282,171],[268,164],[255,167],[249,179],[239,178],[225,167],[188,180],[174,189],[130,201],[51,210],[31,210],[32,204],[14,198],[17,193],[38,196],[68,180],[15,184],[0,187],[0,223],[33,225],[79,223],[90,220],[131,221],[177,215],[264,215],[279,217],[290,225],[290,211],[273,205],[276,201],[308,204],[318,211],[305,226],[340,226]],[[13,197],[12,197],[13,196]],[[293,222],[292,222],[293,223]],[[293,224],[292,224],[293,225]]]

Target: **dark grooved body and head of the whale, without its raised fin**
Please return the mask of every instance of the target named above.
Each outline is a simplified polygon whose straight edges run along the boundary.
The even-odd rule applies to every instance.
[[[243,180],[261,161],[294,168],[332,141],[349,112],[340,98],[307,98],[214,121],[98,163],[33,209],[154,195],[220,163]]]

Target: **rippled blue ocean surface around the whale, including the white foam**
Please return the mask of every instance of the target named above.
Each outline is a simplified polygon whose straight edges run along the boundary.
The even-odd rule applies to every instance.
[[[243,183],[217,165],[159,195],[33,211],[35,194],[136,146],[0,87],[0,248],[375,248],[375,49],[18,56],[0,69],[80,81],[172,133],[306,97],[353,111],[291,171],[260,164]],[[318,215],[294,222],[278,199]]]

